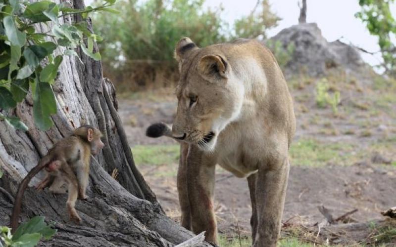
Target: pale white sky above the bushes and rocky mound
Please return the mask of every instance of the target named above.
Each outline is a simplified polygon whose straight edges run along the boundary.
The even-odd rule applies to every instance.
[[[86,4],[93,2],[93,0],[84,1]],[[282,18],[276,28],[269,30],[269,37],[297,24],[299,15],[297,1],[269,0],[272,11]],[[222,4],[224,8],[222,18],[232,25],[237,18],[248,15],[256,2],[257,0],[206,0],[204,6],[218,7]],[[370,35],[365,25],[354,17],[359,10],[358,0],[307,0],[307,22],[316,22],[328,41],[341,39],[367,51],[377,52],[380,50],[377,38]],[[396,17],[396,3],[391,5],[391,11]],[[366,53],[361,55],[371,65],[381,61],[379,53],[375,57]]]

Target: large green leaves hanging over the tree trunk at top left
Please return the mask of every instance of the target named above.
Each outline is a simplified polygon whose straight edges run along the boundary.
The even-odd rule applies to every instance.
[[[56,101],[51,84],[63,56],[76,55],[74,50],[81,47],[83,52],[95,60],[100,59],[94,52],[94,41],[100,37],[87,29],[86,22],[63,23],[61,17],[81,14],[87,18],[94,11],[114,12],[109,6],[115,0],[105,0],[96,8],[74,9],[66,3],[56,4],[48,0],[22,2],[0,0],[0,120],[27,130],[27,126],[7,111],[22,102],[29,90],[33,98],[35,124],[42,130],[52,126],[50,116],[56,113]],[[36,24],[47,25],[48,33],[37,33]],[[62,46],[63,48],[57,49]]]

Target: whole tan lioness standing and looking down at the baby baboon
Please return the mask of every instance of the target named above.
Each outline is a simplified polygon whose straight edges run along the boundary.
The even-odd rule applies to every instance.
[[[272,53],[255,40],[175,49],[180,82],[172,130],[154,124],[148,136],[181,142],[177,188],[181,224],[216,243],[215,165],[247,177],[253,246],[276,246],[296,129],[292,97]]]

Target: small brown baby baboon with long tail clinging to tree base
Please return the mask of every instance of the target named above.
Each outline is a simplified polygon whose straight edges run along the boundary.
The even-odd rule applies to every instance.
[[[42,190],[48,186],[52,193],[66,193],[62,188],[68,185],[68,198],[66,207],[70,219],[79,223],[81,221],[75,209],[77,198],[86,199],[85,194],[89,180],[89,166],[91,154],[98,154],[104,144],[100,140],[101,132],[92,126],[86,125],[77,128],[73,135],[59,140],[48,151],[26,177],[19,184],[12,209],[10,227],[15,232],[18,226],[18,217],[21,211],[23,193],[30,180],[43,168],[46,177],[36,186]]]

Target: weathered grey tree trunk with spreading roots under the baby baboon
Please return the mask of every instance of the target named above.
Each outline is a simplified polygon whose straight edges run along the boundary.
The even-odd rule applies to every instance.
[[[74,0],[71,4],[75,8],[84,7],[82,0]],[[63,21],[78,21],[79,18],[65,17]],[[42,33],[49,30],[45,25],[36,28]],[[136,168],[117,114],[114,86],[102,78],[101,63],[81,50],[77,52],[84,64],[74,57],[64,57],[60,74],[53,84],[57,114],[52,116],[54,125],[48,131],[39,131],[34,126],[30,93],[9,113],[21,118],[29,131],[15,130],[4,121],[0,122],[0,166],[4,172],[0,180],[0,225],[9,224],[12,195],[16,194],[18,183],[27,171],[74,127],[92,124],[104,134],[105,148],[91,162],[89,199],[76,203],[82,217],[81,225],[69,221],[66,195],[53,195],[47,190],[36,192],[31,187],[25,192],[20,220],[43,215],[58,229],[52,240],[40,245],[174,246],[190,239],[194,235],[165,215]],[[108,174],[114,168],[119,171],[116,180]],[[30,186],[40,178],[43,174],[32,179]]]

